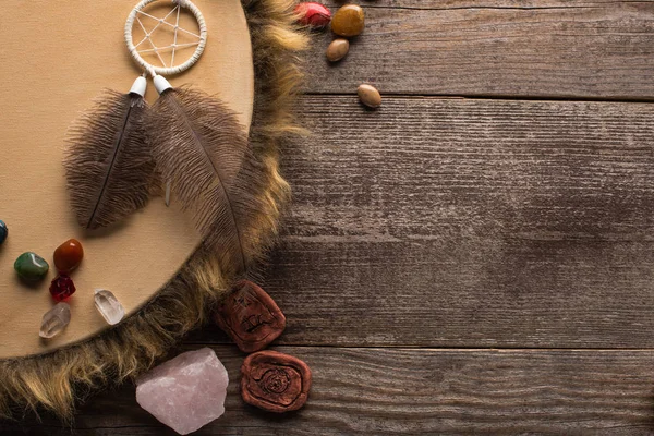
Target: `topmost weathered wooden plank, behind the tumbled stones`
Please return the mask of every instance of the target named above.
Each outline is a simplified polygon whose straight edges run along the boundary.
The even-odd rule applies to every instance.
[[[654,98],[651,1],[362,1],[365,33],[329,65],[317,33],[311,93]],[[331,1],[336,9],[341,3]]]

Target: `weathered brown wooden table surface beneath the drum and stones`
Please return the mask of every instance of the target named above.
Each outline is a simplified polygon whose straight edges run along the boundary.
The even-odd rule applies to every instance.
[[[294,204],[263,283],[310,401],[244,405],[244,355],[209,326],[180,350],[214,348],[231,385],[197,434],[654,434],[654,2],[361,4],[344,61],[328,33],[306,56],[314,134],[284,150]],[[71,434],[43,420],[2,434]],[[72,433],[173,434],[133,386]]]

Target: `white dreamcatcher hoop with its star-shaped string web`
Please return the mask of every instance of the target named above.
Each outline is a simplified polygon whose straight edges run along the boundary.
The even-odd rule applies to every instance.
[[[202,56],[205,46],[207,44],[207,25],[205,23],[205,19],[202,14],[202,12],[199,11],[199,9],[193,4],[193,2],[191,2],[190,0],[171,0],[171,2],[173,4],[177,4],[180,9],[184,8],[186,10],[189,10],[189,12],[191,12],[193,14],[193,16],[195,16],[195,20],[197,21],[197,25],[199,27],[199,35],[195,35],[197,36],[198,43],[197,43],[197,47],[195,48],[195,52],[193,53],[193,56],[191,56],[191,58],[189,58],[184,63],[181,63],[180,65],[173,66],[172,62],[174,61],[174,50],[178,46],[177,44],[177,35],[178,35],[178,31],[181,29],[181,27],[179,26],[179,9],[178,9],[178,23],[177,24],[171,24],[168,23],[166,21],[166,17],[164,19],[159,19],[156,16],[152,16],[149,14],[146,14],[145,12],[143,12],[143,10],[150,3],[154,3],[156,1],[159,0],[142,0],[138,4],[136,4],[134,7],[134,9],[132,10],[132,12],[130,12],[130,15],[128,16],[128,21],[125,22],[125,32],[124,32],[124,36],[125,36],[125,44],[128,45],[128,50],[130,51],[130,55],[132,55],[132,58],[134,59],[134,61],[136,61],[136,63],[138,65],[141,65],[142,68],[144,68],[148,73],[150,73],[153,76],[155,74],[159,74],[159,75],[174,75],[174,74],[179,74],[183,71],[189,70],[191,66],[193,66],[195,64],[195,62],[197,62],[197,60],[199,59],[199,57]],[[172,13],[174,11],[174,9],[170,12]],[[169,13],[169,15],[170,15]],[[153,28],[153,31],[147,32],[145,29],[145,27],[143,27],[143,23],[141,23],[141,19],[138,17],[138,15],[145,15],[145,16],[149,16],[150,19],[155,19],[158,20],[159,23],[157,23],[157,26],[155,26],[155,28]],[[138,52],[137,49],[137,45],[140,45],[141,43],[138,43],[136,46],[134,45],[134,40],[132,38],[132,31],[134,28],[134,23],[138,23],[144,33],[145,33],[145,38],[141,41],[145,41],[148,40],[150,46],[153,47],[153,50],[155,53],[157,53],[157,56],[159,56],[159,52],[157,51],[157,49],[162,49],[158,48],[154,45],[154,43],[150,40],[150,34],[159,26],[159,25],[168,25],[168,26],[172,26],[174,27],[175,34],[174,34],[174,41],[173,45],[170,46],[173,49],[173,55],[172,55],[172,60],[171,60],[171,65],[170,66],[155,66],[148,62],[145,61],[145,59],[143,59],[143,57],[141,56],[141,53]],[[182,29],[183,31],[183,29]],[[183,32],[187,32],[187,31],[183,31]],[[180,45],[181,46],[181,45]],[[164,62],[164,60],[160,58],[161,62],[164,64],[166,64],[166,62]]]

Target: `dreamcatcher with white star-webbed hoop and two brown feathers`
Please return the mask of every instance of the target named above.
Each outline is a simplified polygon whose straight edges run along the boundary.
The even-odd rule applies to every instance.
[[[264,183],[261,165],[225,102],[192,87],[175,88],[165,78],[199,60],[207,28],[191,1],[172,0],[160,17],[145,10],[156,1],[141,1],[124,31],[144,75],[126,94],[107,92],[71,130],[64,167],[73,209],[80,226],[94,230],[124,219],[165,192],[167,204],[172,197],[192,211],[205,247],[216,253],[223,272],[242,276],[256,251],[257,241],[243,229],[262,209],[253,194]],[[180,24],[182,10],[194,16],[197,32]],[[143,33],[137,40],[135,31]],[[168,44],[156,39],[161,35]],[[193,48],[189,59],[175,64]],[[152,107],[144,99],[148,75],[159,94]]]

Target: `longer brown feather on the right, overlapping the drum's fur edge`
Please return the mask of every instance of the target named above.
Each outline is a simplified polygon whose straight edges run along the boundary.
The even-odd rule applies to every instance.
[[[217,98],[168,89],[152,110],[152,144],[158,169],[174,201],[193,211],[204,244],[226,274],[243,275],[255,247],[253,220],[263,209],[265,183],[245,130]]]

